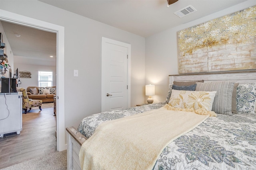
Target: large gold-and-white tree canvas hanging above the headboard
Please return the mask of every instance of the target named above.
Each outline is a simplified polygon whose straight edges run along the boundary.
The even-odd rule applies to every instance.
[[[256,69],[256,6],[178,31],[179,74]]]

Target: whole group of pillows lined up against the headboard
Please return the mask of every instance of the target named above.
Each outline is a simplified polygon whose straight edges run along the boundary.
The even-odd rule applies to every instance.
[[[255,113],[256,83],[234,81],[173,82],[166,101],[172,107],[204,108],[218,114],[232,115],[237,111]]]

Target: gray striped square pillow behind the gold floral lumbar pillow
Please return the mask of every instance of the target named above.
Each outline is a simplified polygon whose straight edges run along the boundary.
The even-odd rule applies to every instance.
[[[212,111],[223,115],[232,115],[233,81],[197,82],[196,91],[217,91]]]

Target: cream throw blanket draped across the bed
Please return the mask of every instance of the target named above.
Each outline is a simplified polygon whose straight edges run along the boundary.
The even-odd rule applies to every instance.
[[[165,107],[100,124],[83,143],[83,170],[152,170],[162,150],[209,115]]]

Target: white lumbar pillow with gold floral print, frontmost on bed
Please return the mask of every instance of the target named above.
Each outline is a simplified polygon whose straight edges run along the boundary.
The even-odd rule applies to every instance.
[[[193,108],[212,110],[216,91],[187,91],[187,90],[172,90],[169,104],[177,108]]]

